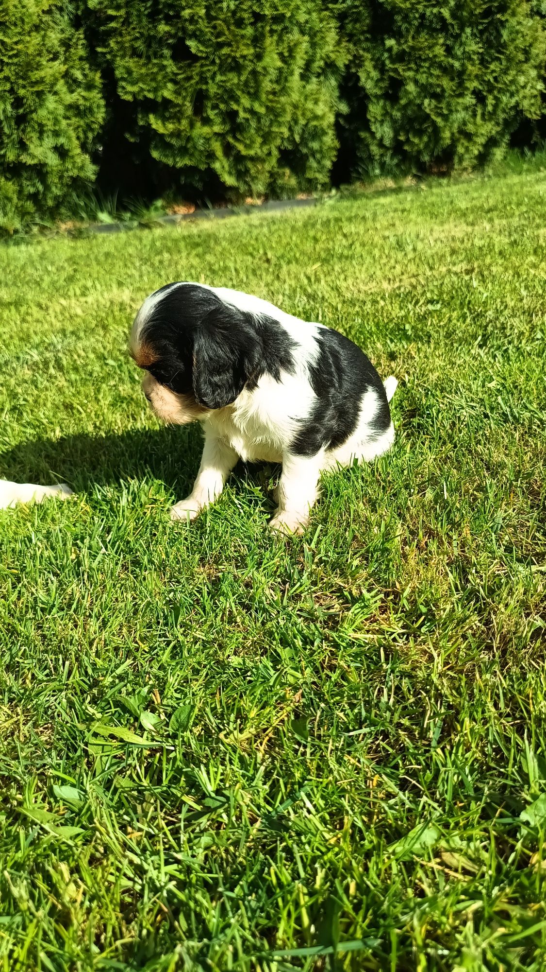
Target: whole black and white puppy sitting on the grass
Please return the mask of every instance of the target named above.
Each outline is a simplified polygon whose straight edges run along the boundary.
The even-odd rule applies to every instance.
[[[368,461],[394,440],[385,384],[343,334],[259,297],[168,284],[147,297],[130,334],[155,415],[203,423],[201,465],[173,519],[194,519],[222,493],[238,458],[280,462],[271,527],[300,532],[326,469]]]

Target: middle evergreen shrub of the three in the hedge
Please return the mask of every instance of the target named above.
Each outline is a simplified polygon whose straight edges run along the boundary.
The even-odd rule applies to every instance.
[[[284,194],[327,183],[341,58],[317,0],[89,0],[89,8],[89,36],[114,87],[111,183],[122,184],[119,136],[136,143],[139,162],[156,160],[159,188],[182,179]]]

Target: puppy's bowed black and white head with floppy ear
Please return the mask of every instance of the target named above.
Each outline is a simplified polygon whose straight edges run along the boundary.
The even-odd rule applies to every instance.
[[[198,284],[169,284],[144,301],[129,338],[154,414],[186,424],[231,404],[256,369],[251,316]]]

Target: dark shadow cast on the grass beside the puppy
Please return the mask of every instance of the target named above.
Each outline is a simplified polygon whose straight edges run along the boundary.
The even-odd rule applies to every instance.
[[[94,486],[153,477],[182,497],[197,473],[201,448],[197,425],[31,439],[0,452],[0,478],[44,485],[67,482],[77,493],[86,493]],[[263,473],[254,465],[238,463],[237,478],[264,485]]]

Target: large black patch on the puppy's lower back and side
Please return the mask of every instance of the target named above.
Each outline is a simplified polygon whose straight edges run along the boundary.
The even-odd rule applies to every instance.
[[[357,428],[361,399],[370,388],[378,399],[373,432],[379,436],[391,425],[385,387],[364,352],[337,330],[321,329],[318,341],[319,358],[310,368],[318,401],[290,445],[297,456],[315,456],[323,448],[343,445]]]

